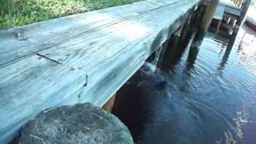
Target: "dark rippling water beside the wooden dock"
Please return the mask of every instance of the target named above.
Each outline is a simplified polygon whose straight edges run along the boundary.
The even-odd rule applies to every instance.
[[[177,50],[164,71],[146,63],[119,90],[113,112],[134,142],[256,142],[256,49],[209,35]]]

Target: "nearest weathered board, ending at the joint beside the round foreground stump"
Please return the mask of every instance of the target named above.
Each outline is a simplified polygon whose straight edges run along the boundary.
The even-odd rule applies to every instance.
[[[86,84],[85,72],[38,55],[0,66],[0,79],[0,143],[34,114],[62,104]]]

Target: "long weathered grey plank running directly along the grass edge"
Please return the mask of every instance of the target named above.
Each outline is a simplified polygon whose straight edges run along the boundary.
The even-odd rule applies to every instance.
[[[0,65],[180,0],[152,0],[0,30]]]

